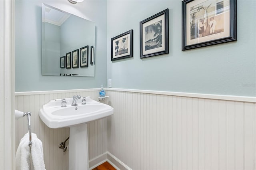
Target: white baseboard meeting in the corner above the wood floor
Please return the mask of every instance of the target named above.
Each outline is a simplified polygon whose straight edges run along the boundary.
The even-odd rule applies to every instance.
[[[117,170],[132,170],[126,164],[124,164],[121,160],[116,158],[116,156],[112,155],[110,152],[105,152],[104,154],[101,154],[100,156],[97,156],[89,160],[89,170],[96,168],[97,166],[99,166],[100,164],[106,161],[110,163]]]

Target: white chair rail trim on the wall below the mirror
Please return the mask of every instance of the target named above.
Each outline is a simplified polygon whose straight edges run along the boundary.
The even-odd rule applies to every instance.
[[[73,92],[83,92],[83,91],[99,91],[100,88],[96,89],[70,89],[70,90],[51,90],[51,91],[24,91],[15,92],[15,96],[24,95],[45,95],[45,94],[56,94],[56,93],[73,93]]]

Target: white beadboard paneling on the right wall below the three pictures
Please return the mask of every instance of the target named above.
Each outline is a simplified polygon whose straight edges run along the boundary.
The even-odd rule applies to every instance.
[[[134,170],[256,170],[256,103],[108,90],[108,152]]]

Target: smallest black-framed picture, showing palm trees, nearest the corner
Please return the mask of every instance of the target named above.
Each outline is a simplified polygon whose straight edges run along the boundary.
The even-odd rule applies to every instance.
[[[133,56],[133,30],[111,38],[111,61]]]

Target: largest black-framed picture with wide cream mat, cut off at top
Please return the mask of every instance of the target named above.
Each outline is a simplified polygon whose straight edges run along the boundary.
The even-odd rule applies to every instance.
[[[236,41],[236,0],[182,1],[182,50]]]

